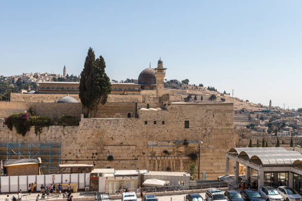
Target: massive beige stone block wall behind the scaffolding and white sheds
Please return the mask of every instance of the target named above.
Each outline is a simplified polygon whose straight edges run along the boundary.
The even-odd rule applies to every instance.
[[[79,126],[51,126],[38,136],[32,128],[24,137],[7,129],[2,119],[0,142],[61,142],[64,164],[182,171],[198,164],[188,155],[198,155],[198,142],[203,141],[200,172],[217,179],[224,174],[226,152],[234,147],[232,108],[232,103],[172,103],[166,110],[139,110],[139,118],[82,118]],[[110,155],[113,161],[107,160]]]

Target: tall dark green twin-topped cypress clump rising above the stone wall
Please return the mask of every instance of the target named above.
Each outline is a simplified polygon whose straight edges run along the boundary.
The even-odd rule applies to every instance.
[[[94,117],[99,109],[99,104],[105,104],[111,92],[110,79],[105,73],[106,64],[100,56],[95,59],[93,49],[90,47],[81,72],[79,84],[79,98],[90,111],[94,110]]]

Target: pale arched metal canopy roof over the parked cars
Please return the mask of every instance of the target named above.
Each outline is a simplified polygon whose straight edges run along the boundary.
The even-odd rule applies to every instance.
[[[287,151],[283,147],[248,147],[231,148],[230,154],[239,158],[248,157],[249,160],[260,160],[261,165],[292,165],[297,160],[302,160],[302,155],[297,151]]]

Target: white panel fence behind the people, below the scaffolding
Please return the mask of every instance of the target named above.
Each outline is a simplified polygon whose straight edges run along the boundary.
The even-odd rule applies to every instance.
[[[89,187],[90,173],[80,174],[55,174],[55,180],[52,181],[52,175],[25,175],[25,176],[1,176],[1,193],[16,193],[20,189],[27,192],[30,183],[37,182],[37,191],[40,191],[41,184],[50,186],[52,183],[68,184],[76,183],[78,189]]]

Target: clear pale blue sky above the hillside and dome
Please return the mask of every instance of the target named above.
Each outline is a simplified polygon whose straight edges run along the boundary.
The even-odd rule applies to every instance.
[[[87,50],[111,79],[166,79],[302,107],[301,0],[0,0],[0,75],[79,75]]]

